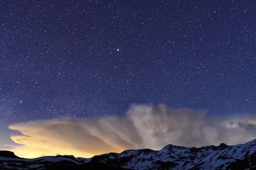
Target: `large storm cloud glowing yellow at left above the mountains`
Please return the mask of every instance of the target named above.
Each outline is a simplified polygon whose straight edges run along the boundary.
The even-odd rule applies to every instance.
[[[256,117],[212,117],[207,111],[172,109],[163,104],[133,105],[125,117],[59,118],[10,125],[21,132],[11,139],[20,157],[72,154],[92,157],[127,149],[234,145],[256,138]]]

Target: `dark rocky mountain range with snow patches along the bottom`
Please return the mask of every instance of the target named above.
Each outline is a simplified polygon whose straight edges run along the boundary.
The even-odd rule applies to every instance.
[[[22,159],[13,152],[0,151],[0,169],[256,169],[256,139],[234,146],[125,150],[90,159],[72,155]]]

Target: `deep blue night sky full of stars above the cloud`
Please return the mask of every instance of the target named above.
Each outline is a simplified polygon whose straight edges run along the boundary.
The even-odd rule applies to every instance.
[[[0,148],[134,103],[256,113],[256,1],[0,1]]]

